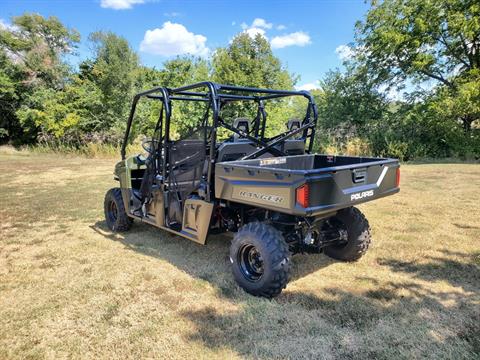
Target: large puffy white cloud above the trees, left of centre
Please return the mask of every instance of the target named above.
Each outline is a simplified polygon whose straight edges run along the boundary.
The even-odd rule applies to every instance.
[[[174,56],[191,54],[207,56],[209,49],[205,46],[207,38],[187,30],[182,24],[167,21],[159,29],[147,30],[140,51],[162,55]]]

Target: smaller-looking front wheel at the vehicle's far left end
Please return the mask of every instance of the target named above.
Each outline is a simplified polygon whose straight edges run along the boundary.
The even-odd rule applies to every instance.
[[[133,219],[127,215],[123,204],[122,190],[113,188],[105,194],[103,204],[105,211],[105,221],[112,231],[127,231],[133,223]]]

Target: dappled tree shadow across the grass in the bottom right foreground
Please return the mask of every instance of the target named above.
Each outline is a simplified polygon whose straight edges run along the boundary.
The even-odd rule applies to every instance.
[[[183,316],[195,325],[191,340],[256,358],[478,359],[479,284],[472,287],[474,264],[454,262],[386,265],[392,277],[358,277],[363,285],[355,291],[285,291],[274,301],[248,301],[235,313],[208,307]],[[456,277],[439,275],[452,267]],[[403,280],[394,273],[416,275]],[[420,276],[439,285],[416,281]]]

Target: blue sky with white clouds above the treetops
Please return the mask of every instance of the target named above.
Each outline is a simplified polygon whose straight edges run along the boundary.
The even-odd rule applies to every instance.
[[[208,57],[239,32],[260,33],[300,76],[297,88],[311,90],[328,70],[342,66],[355,22],[367,10],[363,0],[0,0],[0,26],[24,12],[56,16],[80,32],[80,59],[89,56],[88,34],[113,31],[143,64],[157,68],[177,55]]]

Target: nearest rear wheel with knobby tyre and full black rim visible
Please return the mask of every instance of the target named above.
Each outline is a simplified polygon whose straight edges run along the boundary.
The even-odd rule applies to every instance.
[[[246,292],[273,298],[287,286],[290,252],[280,231],[252,222],[235,234],[230,246],[233,276]]]

